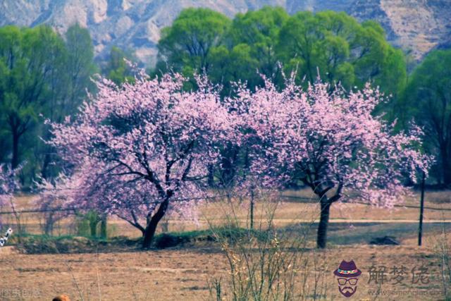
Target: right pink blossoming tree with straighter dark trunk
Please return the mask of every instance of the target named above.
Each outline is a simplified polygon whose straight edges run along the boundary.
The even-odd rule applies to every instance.
[[[409,188],[406,176],[427,172],[430,159],[421,152],[421,130],[394,133],[393,124],[373,116],[383,102],[378,90],[330,94],[320,81],[307,90],[287,80],[283,90],[269,81],[256,92],[239,87],[228,103],[240,116],[243,145],[252,145],[251,172],[268,187],[300,182],[318,197],[317,246],[326,247],[330,206],[363,201],[393,207]]]

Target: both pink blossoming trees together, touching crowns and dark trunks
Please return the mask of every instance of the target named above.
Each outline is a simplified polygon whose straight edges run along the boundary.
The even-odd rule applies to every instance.
[[[149,247],[166,212],[192,214],[192,200],[208,192],[209,166],[221,162],[221,145],[247,147],[249,166],[237,190],[283,188],[300,181],[321,204],[318,246],[326,246],[330,206],[360,199],[392,207],[409,189],[416,169],[427,173],[421,130],[393,133],[372,112],[382,98],[369,85],[345,93],[316,82],[304,89],[294,79],[278,91],[269,80],[255,92],[237,83],[222,99],[205,78],[184,91],[178,73],[136,78],[119,89],[99,80],[99,93],[73,123],[52,123],[54,145],[72,168],[70,207],[116,214],[144,236]],[[244,189],[243,189],[244,188]],[[202,192],[202,193],[201,193]],[[146,219],[142,226],[139,219]]]

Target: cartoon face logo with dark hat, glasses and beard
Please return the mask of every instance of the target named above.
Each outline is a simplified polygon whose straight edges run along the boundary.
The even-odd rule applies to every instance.
[[[357,269],[354,260],[345,262],[343,260],[333,274],[337,276],[338,290],[345,297],[351,297],[357,290],[358,277],[362,274],[362,271]]]

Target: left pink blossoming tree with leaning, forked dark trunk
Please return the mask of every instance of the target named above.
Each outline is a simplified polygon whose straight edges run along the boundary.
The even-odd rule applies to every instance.
[[[186,92],[178,74],[142,73],[122,87],[101,79],[73,122],[52,124],[50,143],[72,169],[68,202],[121,216],[140,228],[144,248],[168,209],[191,214],[190,200],[205,191],[217,146],[231,134],[218,92],[197,80],[199,89]]]

